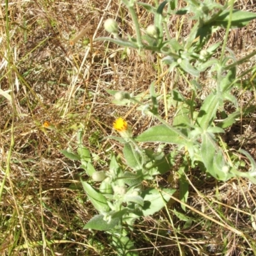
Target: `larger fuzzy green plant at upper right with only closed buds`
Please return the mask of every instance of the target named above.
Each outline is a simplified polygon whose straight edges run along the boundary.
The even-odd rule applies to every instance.
[[[164,54],[164,63],[169,65],[168,72],[172,72],[176,68],[177,72],[182,74],[189,74],[193,77],[190,84],[192,86],[192,100],[187,100],[178,90],[172,91],[172,101],[179,105],[179,112],[173,118],[173,125],[166,123],[158,114],[157,99],[161,95],[156,95],[154,90],[154,82],[150,86],[151,104],[145,104],[137,100],[135,97],[125,96],[120,98],[120,93],[116,91],[108,91],[115,96],[115,102],[119,104],[127,104],[128,102],[138,104],[143,114],[154,116],[162,124],[156,127],[151,127],[147,131],[140,134],[136,141],[140,142],[162,142],[173,143],[186,148],[190,159],[190,165],[202,166],[201,168],[212,177],[218,180],[228,180],[231,177],[243,176],[248,177],[253,183],[256,182],[255,177],[255,162],[252,157],[248,156],[244,150],[238,150],[241,154],[246,154],[251,162],[250,172],[244,173],[237,171],[234,166],[234,161],[230,159],[230,152],[225,148],[223,142],[220,140],[219,134],[224,132],[223,129],[230,127],[234,124],[235,119],[241,115],[237,99],[232,95],[232,88],[237,81],[240,81],[241,76],[237,77],[237,65],[248,61],[256,54],[253,51],[248,56],[241,60],[236,60],[234,53],[230,49],[226,49],[227,35],[223,45],[220,42],[214,45],[207,45],[213,31],[218,30],[220,27],[226,28],[241,28],[246,26],[250,20],[255,19],[255,13],[243,12],[233,9],[233,2],[228,2],[225,6],[217,4],[214,1],[187,1],[188,6],[180,10],[174,10],[176,6],[175,1],[164,1],[159,4],[157,8],[145,3],[137,3],[147,9],[149,12],[154,13],[154,25],[147,28],[147,34],[141,36],[140,24],[134,12],[133,5],[135,1],[123,1],[131,12],[132,20],[135,23],[136,38],[129,38],[129,40],[119,38],[116,31],[112,32],[114,38],[97,38],[97,40],[109,40],[116,44],[133,47],[135,49],[150,50]],[[167,10],[164,6],[168,5]],[[227,8],[230,8],[228,10]],[[168,34],[168,30],[164,31],[166,22],[170,15],[173,14],[193,14],[196,20],[195,25],[191,29],[191,33],[186,38],[178,42],[175,38],[170,39],[166,35],[167,40],[164,40],[164,32]],[[113,24],[116,23],[112,20]],[[109,21],[108,24],[109,25]],[[113,26],[117,28],[117,26]],[[147,41],[143,43],[141,41]],[[220,58],[214,58],[214,52],[221,47]],[[228,51],[225,56],[225,51]],[[212,92],[201,103],[199,110],[196,110],[195,102],[196,95],[198,95],[198,88],[200,86],[200,72],[206,69],[215,77],[215,87]],[[251,70],[246,71],[250,72]],[[126,93],[127,94],[127,93]],[[202,100],[200,100],[202,101]],[[225,102],[230,102],[236,109],[233,113],[225,113],[223,108]],[[244,110],[246,113],[246,109]],[[214,120],[217,115],[223,116],[221,122],[215,125]]]

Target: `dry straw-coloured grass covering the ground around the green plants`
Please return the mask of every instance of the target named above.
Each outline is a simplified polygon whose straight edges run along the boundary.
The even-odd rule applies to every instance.
[[[239,1],[237,6],[254,12],[256,7],[250,1]],[[137,10],[146,27],[152,16],[139,6]],[[92,42],[95,36],[107,36],[102,21],[108,17],[118,20],[123,36],[134,35],[127,10],[118,0],[13,0],[8,5],[9,23],[2,1],[0,16],[0,83],[2,90],[12,90],[12,101],[0,96],[0,254],[115,255],[107,234],[83,230],[95,210],[80,187],[79,163],[68,161],[59,150],[76,148],[76,132],[83,127],[84,145],[94,154],[97,170],[104,170],[110,154],[107,149],[113,146],[117,154],[122,149],[102,140],[112,133],[116,116],[129,113],[134,134],[154,125],[136,110],[111,104],[106,89],[145,92],[164,72],[160,56]],[[189,34],[192,23],[188,24],[181,36]],[[172,36],[178,35],[180,26],[180,17],[173,17]],[[86,27],[92,29],[70,45]],[[222,40],[224,33],[216,33],[212,42]],[[255,36],[254,21],[248,28],[232,31],[228,45],[239,58],[252,51]],[[252,65],[239,67],[239,72]],[[157,91],[179,88],[189,98],[191,90],[184,78],[164,76]],[[202,84],[207,92],[211,77],[205,74]],[[236,93],[241,106],[255,105],[255,90],[237,89]],[[163,116],[172,122],[176,109],[166,113],[164,104],[162,108]],[[45,121],[52,129],[45,128]],[[230,147],[242,147],[255,159],[255,131],[255,113],[251,113],[223,138]],[[182,212],[173,201],[173,225],[164,210],[137,223],[131,236],[141,255],[180,255],[177,243],[184,255],[253,255],[256,187],[246,179],[218,183],[198,170],[188,176],[191,208],[183,221],[173,212]],[[159,177],[159,182],[174,186],[168,177]]]

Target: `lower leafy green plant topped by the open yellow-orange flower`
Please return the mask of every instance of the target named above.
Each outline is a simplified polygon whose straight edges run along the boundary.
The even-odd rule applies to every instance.
[[[77,153],[70,150],[61,150],[69,159],[81,161],[91,182],[81,179],[84,191],[99,212],[84,228],[105,230],[112,236],[112,243],[120,255],[138,255],[129,252],[134,249],[134,244],[127,237],[128,230],[124,223],[132,230],[134,221],[141,216],[152,215],[159,211],[170,200],[175,189],[148,188],[143,189],[143,180],[152,180],[154,175],[163,174],[172,166],[172,154],[164,154],[159,148],[157,153],[153,150],[142,150],[132,133],[127,122],[118,118],[114,124],[120,137],[116,140],[124,143],[124,157],[126,163],[118,164],[115,155],[111,156],[108,171],[96,171],[92,164],[92,157],[88,148],[82,144],[83,130],[77,135]],[[127,166],[130,170],[127,170]],[[93,188],[95,182],[100,182],[99,188]]]

